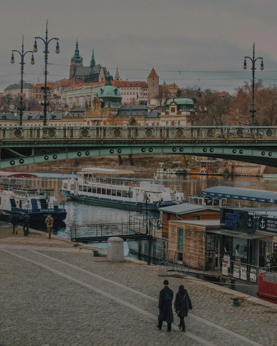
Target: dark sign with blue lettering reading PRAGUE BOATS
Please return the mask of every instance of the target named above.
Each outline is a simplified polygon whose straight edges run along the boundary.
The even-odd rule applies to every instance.
[[[220,227],[238,232],[249,232],[252,230],[253,219],[248,220],[247,211],[222,208],[220,211]],[[249,226],[249,225],[250,226]],[[252,230],[253,231],[253,230]]]

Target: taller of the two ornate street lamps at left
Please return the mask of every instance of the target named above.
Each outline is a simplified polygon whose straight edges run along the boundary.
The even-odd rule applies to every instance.
[[[59,39],[56,38],[56,37],[53,37],[50,40],[48,39],[48,28],[47,28],[47,26],[48,26],[48,20],[46,21],[46,36],[45,36],[45,38],[43,39],[43,38],[41,38],[39,36],[35,37],[34,38],[35,39],[34,48],[33,48],[33,51],[36,53],[37,50],[38,50],[37,49],[37,43],[36,43],[37,39],[40,39],[40,40],[42,40],[44,42],[45,48],[44,48],[43,53],[44,53],[44,59],[45,59],[45,68],[44,68],[44,75],[45,75],[45,77],[44,77],[44,87],[41,87],[41,90],[44,90],[44,102],[42,103],[42,105],[43,105],[43,126],[46,126],[46,124],[47,124],[46,114],[47,114],[47,105],[49,105],[49,103],[47,103],[47,91],[49,90],[49,88],[47,88],[47,74],[48,74],[48,72],[47,72],[47,60],[48,60],[48,53],[50,53],[48,51],[48,44],[49,44],[50,41],[52,41],[52,40],[56,40],[57,41],[55,52],[57,54],[60,53]]]

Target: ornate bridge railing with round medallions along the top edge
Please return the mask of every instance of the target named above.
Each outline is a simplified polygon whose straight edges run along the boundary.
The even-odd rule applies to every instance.
[[[276,139],[277,127],[255,126],[1,126],[0,140]]]

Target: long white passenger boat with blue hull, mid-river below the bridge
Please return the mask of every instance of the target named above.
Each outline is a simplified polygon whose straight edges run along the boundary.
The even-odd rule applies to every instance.
[[[132,181],[114,175],[132,175],[133,171],[89,167],[62,181],[62,195],[70,199],[119,208],[157,210],[162,206],[181,203],[181,187],[165,187],[156,181]]]

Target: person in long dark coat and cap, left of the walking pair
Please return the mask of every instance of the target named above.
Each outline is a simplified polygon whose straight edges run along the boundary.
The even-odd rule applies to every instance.
[[[157,328],[162,329],[163,321],[168,324],[168,331],[171,331],[171,323],[173,322],[173,312],[172,312],[172,300],[173,291],[169,288],[168,280],[164,281],[164,288],[160,291],[159,296],[159,316]]]

